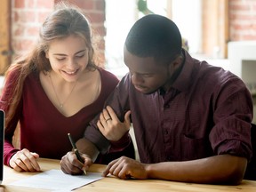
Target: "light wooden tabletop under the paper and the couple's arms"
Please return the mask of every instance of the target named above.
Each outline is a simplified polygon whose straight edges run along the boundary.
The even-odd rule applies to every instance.
[[[48,171],[51,169],[60,169],[60,161],[52,159],[39,159],[39,164],[42,171]],[[90,168],[90,172],[102,172],[105,169],[105,165],[93,164]],[[4,181],[3,185],[5,191],[47,191],[37,188],[20,188],[9,185],[12,181],[24,179],[26,177],[37,174],[38,172],[15,172],[11,168],[4,166]],[[256,191],[256,181],[243,180],[238,186],[220,186],[220,185],[203,185],[203,184],[191,184],[166,180],[120,180],[116,177],[106,177],[102,180],[95,181],[82,188],[77,188],[75,191],[86,192],[221,192],[221,191]]]

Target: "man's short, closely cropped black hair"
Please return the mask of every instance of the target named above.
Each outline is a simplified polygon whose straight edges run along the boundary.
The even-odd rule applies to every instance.
[[[172,20],[149,14],[134,23],[125,46],[128,52],[138,57],[171,60],[181,52],[180,30]]]

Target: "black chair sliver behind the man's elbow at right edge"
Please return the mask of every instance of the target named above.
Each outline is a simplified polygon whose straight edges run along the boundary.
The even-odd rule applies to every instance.
[[[252,141],[252,159],[247,164],[244,173],[244,180],[256,180],[256,124],[252,124],[251,128],[251,141]]]

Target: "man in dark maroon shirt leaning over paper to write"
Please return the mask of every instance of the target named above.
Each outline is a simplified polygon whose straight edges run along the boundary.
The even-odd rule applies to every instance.
[[[85,163],[69,152],[62,171],[81,173],[110,145],[122,150],[131,115],[140,162],[123,156],[104,176],[238,184],[252,156],[252,96],[243,81],[192,58],[172,20],[156,14],[132,26],[124,63],[130,73],[77,141]]]

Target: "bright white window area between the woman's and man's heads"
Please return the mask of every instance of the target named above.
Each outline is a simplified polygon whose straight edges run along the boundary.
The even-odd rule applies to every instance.
[[[106,68],[118,77],[128,72],[123,48],[135,20],[138,20],[137,0],[106,0]]]

